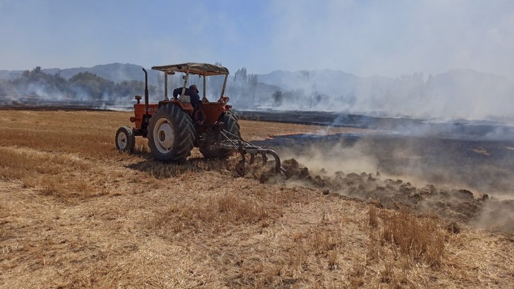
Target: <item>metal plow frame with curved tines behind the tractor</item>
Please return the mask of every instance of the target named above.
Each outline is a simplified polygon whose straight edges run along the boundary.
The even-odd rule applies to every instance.
[[[247,142],[246,140],[243,140],[242,138],[239,138],[237,135],[229,133],[229,131],[225,131],[224,129],[221,130],[221,133],[225,140],[219,142],[219,145],[227,149],[238,151],[241,155],[241,160],[239,161],[238,165],[235,165],[235,172],[237,172],[240,176],[244,176],[244,173],[246,171],[246,154],[250,155],[250,159],[248,162],[250,164],[254,163],[255,155],[260,154],[260,156],[262,156],[263,158],[263,165],[266,165],[267,163],[267,154],[273,156],[273,158],[275,159],[276,174],[286,176],[285,169],[282,167],[279,155],[276,154],[276,151],[272,149],[263,149],[262,147],[258,147],[254,144],[251,144],[250,142]],[[232,138],[229,138],[229,135]]]

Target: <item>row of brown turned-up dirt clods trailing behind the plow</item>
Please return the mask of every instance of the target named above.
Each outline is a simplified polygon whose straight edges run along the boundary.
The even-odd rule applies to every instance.
[[[300,182],[306,187],[323,189],[324,195],[338,192],[347,197],[377,201],[386,208],[411,208],[418,213],[436,213],[439,217],[454,223],[454,232],[459,231],[457,222],[476,223],[483,213],[483,207],[490,201],[488,195],[474,197],[470,190],[438,190],[434,185],[427,184],[417,188],[410,182],[401,179],[380,179],[362,172],[335,172],[328,174],[313,174],[307,167],[298,163],[294,158],[284,160],[283,166],[288,170],[291,181]],[[266,176],[266,182],[270,177]],[[494,214],[490,212],[489,215]],[[456,229],[457,228],[457,229]],[[502,231],[506,226],[502,226]],[[510,232],[509,229],[506,229]],[[514,230],[513,230],[514,231]]]

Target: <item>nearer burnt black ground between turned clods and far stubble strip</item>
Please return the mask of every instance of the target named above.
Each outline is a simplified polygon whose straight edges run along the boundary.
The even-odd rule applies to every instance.
[[[338,134],[287,135],[256,144],[272,147],[281,155],[293,151],[292,157],[298,158],[316,149],[320,163],[339,160],[343,171],[346,159],[341,150],[357,149],[359,156],[365,154],[376,160],[376,172],[388,176],[514,196],[514,141]]]

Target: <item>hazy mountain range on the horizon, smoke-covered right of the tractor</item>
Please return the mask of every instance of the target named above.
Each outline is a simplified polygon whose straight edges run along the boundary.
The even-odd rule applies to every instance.
[[[94,67],[42,69],[65,79],[91,72],[110,81],[144,80],[140,65],[112,63]],[[158,74],[149,71],[149,83],[158,85]],[[19,71],[0,70],[0,79],[13,80]],[[249,90],[229,78],[226,92],[242,108],[285,110],[331,110],[387,112],[389,115],[488,119],[514,115],[511,99],[514,83],[506,76],[451,69],[425,76],[415,73],[398,78],[361,77],[341,70],[320,69],[257,74],[258,83]],[[162,82],[161,82],[162,83]],[[175,83],[178,83],[175,81]],[[158,85],[160,86],[160,85]],[[249,92],[251,97],[249,98]],[[249,101],[251,99],[251,101]]]

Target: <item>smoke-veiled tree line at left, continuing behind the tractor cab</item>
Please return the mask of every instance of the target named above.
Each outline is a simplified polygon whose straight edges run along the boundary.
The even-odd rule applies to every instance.
[[[217,63],[221,65],[221,63]],[[157,86],[149,85],[151,96],[163,96],[164,79],[158,74]],[[210,76],[207,79],[207,94],[211,101],[219,97],[223,86],[224,76]],[[203,91],[203,79],[190,76],[188,85],[196,84]],[[168,77],[168,94],[183,85],[181,75]],[[251,107],[256,105],[256,88],[258,78],[249,74],[246,67],[238,69],[233,79],[227,83],[226,95],[233,101],[240,101],[240,106]],[[32,70],[25,70],[13,80],[0,79],[0,97],[35,97],[45,101],[105,101],[115,102],[121,99],[132,100],[134,95],[143,94],[144,81],[122,81],[115,83],[91,72],[80,72],[70,79],[59,74],[48,74],[38,66]],[[262,98],[259,95],[259,99]],[[266,96],[267,98],[270,95]]]

